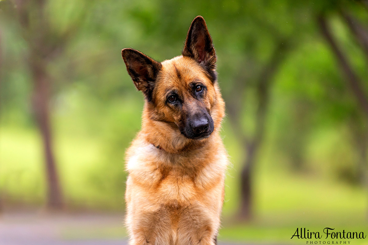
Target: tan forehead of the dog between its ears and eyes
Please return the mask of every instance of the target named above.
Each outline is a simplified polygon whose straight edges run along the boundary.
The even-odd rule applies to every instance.
[[[157,86],[159,90],[168,89],[187,90],[194,82],[211,83],[206,72],[198,62],[191,58],[178,56],[162,62]]]

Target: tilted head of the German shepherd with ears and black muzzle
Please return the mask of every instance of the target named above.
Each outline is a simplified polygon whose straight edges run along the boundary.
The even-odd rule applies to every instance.
[[[149,118],[174,127],[189,139],[209,137],[216,127],[213,115],[219,91],[216,54],[203,17],[196,17],[187,34],[182,55],[158,62],[125,48],[127,71],[146,99]],[[211,114],[212,113],[212,114]]]

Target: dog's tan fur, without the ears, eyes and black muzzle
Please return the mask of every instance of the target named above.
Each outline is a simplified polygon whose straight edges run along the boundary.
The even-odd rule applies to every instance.
[[[126,155],[130,244],[213,245],[228,162],[219,135],[224,101],[217,82],[192,58],[178,56],[161,64],[153,101],[145,102],[142,129]],[[203,101],[190,96],[195,79],[207,87]],[[180,133],[183,112],[165,104],[173,88],[185,98],[184,111],[195,110],[198,103],[210,111],[215,129],[208,138],[193,140]]]

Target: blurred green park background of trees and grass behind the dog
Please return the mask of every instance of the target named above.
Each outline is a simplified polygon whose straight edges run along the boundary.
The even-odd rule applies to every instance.
[[[363,0],[0,1],[2,212],[124,211],[124,151],[143,96],[121,49],[180,55],[197,15],[227,107],[220,238],[289,243],[297,227],[326,226],[368,233]],[[60,205],[50,201],[45,132]]]

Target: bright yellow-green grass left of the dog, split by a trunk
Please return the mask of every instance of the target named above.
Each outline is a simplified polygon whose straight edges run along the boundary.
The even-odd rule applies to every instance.
[[[45,167],[38,132],[11,127],[1,127],[0,132],[1,192],[14,203],[44,203]],[[123,209],[123,194],[116,200],[111,192],[101,190],[110,181],[101,172],[105,164],[101,140],[71,135],[55,138],[57,168],[67,204],[87,209]],[[123,159],[120,169],[123,172]]]

